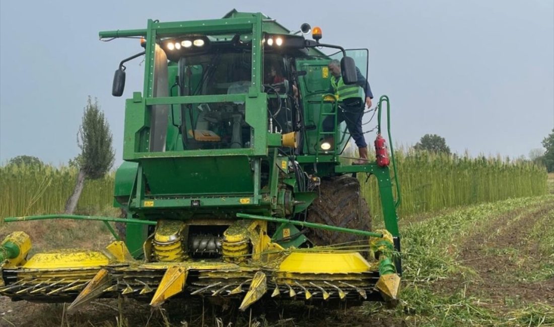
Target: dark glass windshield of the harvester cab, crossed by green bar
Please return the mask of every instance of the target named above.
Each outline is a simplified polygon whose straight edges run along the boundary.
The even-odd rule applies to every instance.
[[[182,96],[246,94],[251,85],[252,54],[247,49],[214,49],[178,60]],[[184,149],[250,147],[244,102],[183,105]]]

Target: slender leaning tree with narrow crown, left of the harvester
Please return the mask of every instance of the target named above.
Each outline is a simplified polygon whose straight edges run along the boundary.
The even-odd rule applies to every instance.
[[[83,110],[83,121],[77,133],[77,144],[81,153],[73,160],[79,168],[73,194],[65,203],[65,213],[73,214],[81,191],[85,186],[85,179],[99,179],[103,177],[114,164],[114,149],[112,148],[110,126],[100,110],[98,100],[91,100],[90,96]]]

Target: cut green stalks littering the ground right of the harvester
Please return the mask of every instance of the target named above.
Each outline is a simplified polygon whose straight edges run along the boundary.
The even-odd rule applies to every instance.
[[[403,253],[406,268],[401,305],[395,310],[387,310],[383,304],[369,303],[362,307],[361,314],[371,316],[372,319],[386,319],[392,316],[414,326],[554,325],[552,303],[514,300],[520,296],[517,291],[511,294],[514,298],[499,303],[497,299],[490,298],[497,290],[487,289],[485,283],[481,283],[481,288],[469,291],[468,286],[488,276],[479,276],[471,262],[460,258],[460,251],[465,251],[461,246],[465,240],[478,235],[486,225],[500,219],[507,212],[522,209],[520,214],[515,215],[510,221],[525,219],[527,215],[533,214],[535,209],[544,206],[552,208],[553,204],[553,196],[511,199],[471,206],[414,224],[405,221],[402,231],[403,247],[406,249]],[[551,214],[543,215],[538,217],[532,229],[535,232],[543,230],[544,225],[551,225],[552,221]],[[553,233],[552,228],[548,229],[547,233]],[[532,234],[529,240],[542,247],[552,263],[554,240],[550,236],[536,238],[537,236]],[[522,241],[526,241],[526,237],[528,236],[523,236]],[[510,247],[484,248],[485,253],[501,257],[517,257],[520,251],[521,249]],[[545,264],[539,266],[536,271],[527,272],[530,278],[521,282],[552,283],[554,274],[547,266],[548,264]],[[510,274],[512,272],[508,272],[506,278],[509,278]],[[542,278],[536,278],[534,274],[539,274]]]

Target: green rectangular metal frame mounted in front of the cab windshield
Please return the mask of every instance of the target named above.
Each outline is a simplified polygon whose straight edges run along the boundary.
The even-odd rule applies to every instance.
[[[125,140],[123,159],[136,161],[143,158],[166,158],[166,157],[194,157],[204,155],[267,155],[268,149],[267,120],[265,119],[266,97],[263,94],[262,71],[263,71],[263,30],[261,28],[263,15],[253,14],[252,17],[196,20],[191,22],[168,22],[159,23],[148,20],[146,30],[116,30],[100,32],[100,38],[116,37],[146,37],[146,58],[145,58],[145,80],[143,96],[133,95],[132,99],[126,102],[125,119]],[[252,33],[252,85],[248,94],[238,95],[201,95],[201,96],[175,96],[175,97],[153,97],[153,66],[155,58],[156,41],[158,38],[173,37],[181,34],[191,33],[229,33],[248,32]],[[258,131],[254,134],[254,146],[250,149],[218,149],[218,150],[187,150],[168,152],[148,152],[148,148],[141,148],[140,140],[136,138],[137,133],[144,128],[150,127],[150,111],[153,105],[181,105],[186,103],[214,103],[228,101],[245,102],[245,121]],[[264,110],[260,113],[260,108]]]

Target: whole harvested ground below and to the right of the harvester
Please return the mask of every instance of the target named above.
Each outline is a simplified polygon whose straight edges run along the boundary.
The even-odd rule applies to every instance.
[[[416,259],[416,247],[428,246],[417,231],[429,235],[434,228],[434,252]],[[278,307],[266,300],[238,313],[197,300],[152,311],[122,298],[97,300],[68,316],[63,304],[2,297],[0,326],[552,326],[553,230],[552,195],[405,217],[406,269],[396,308],[365,303],[331,309],[299,302]]]

